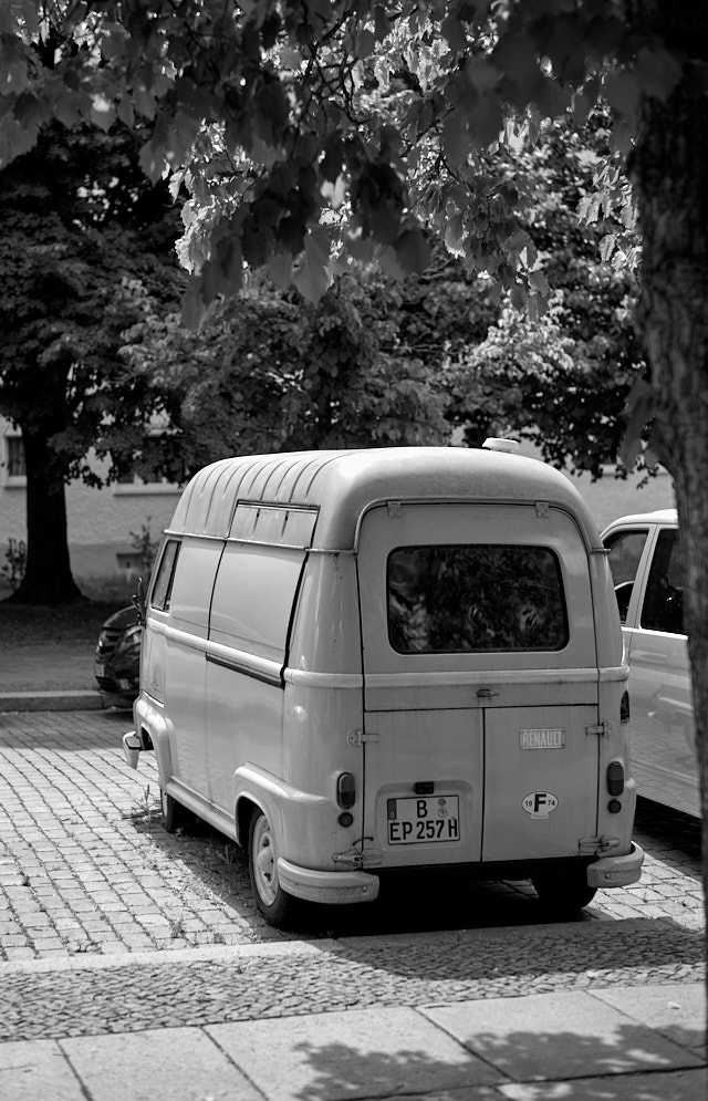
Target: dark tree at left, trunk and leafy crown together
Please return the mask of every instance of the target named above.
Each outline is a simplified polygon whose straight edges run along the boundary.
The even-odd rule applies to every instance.
[[[137,138],[118,127],[49,126],[0,172],[0,413],[22,432],[28,563],[17,600],[76,599],[66,550],[64,484],[100,485],[90,448],[111,455],[110,477],[144,451],[164,408],[150,381],[117,355],[140,295],[176,304],[169,251],[177,209],[137,164]]]

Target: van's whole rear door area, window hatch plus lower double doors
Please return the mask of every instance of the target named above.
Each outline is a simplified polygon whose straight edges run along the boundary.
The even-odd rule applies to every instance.
[[[368,859],[577,855],[597,825],[598,685],[572,518],[388,501],[362,519],[357,569]]]

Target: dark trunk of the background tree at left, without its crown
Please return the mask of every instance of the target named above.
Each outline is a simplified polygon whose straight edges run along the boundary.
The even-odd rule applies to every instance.
[[[27,569],[15,604],[72,604],[82,600],[66,541],[64,477],[48,435],[22,426],[27,466]]]

